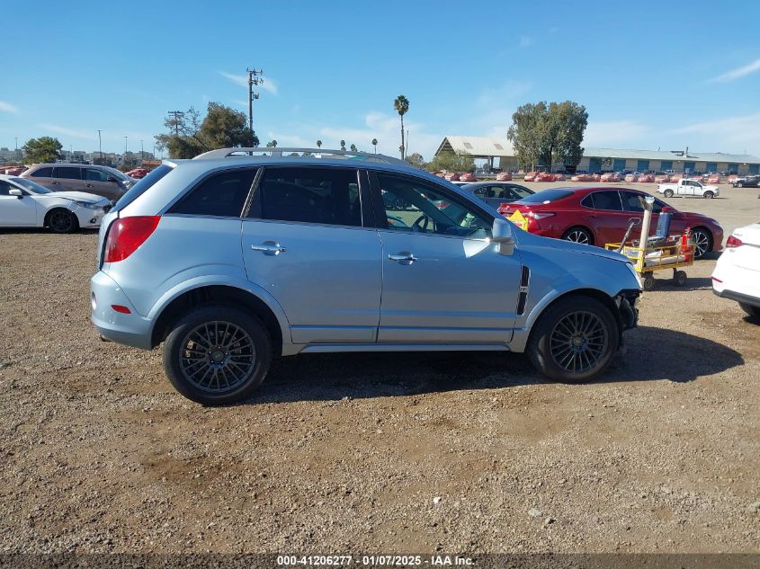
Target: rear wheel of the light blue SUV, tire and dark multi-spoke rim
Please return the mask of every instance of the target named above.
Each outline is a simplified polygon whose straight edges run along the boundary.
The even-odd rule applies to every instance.
[[[174,325],[164,344],[166,377],[202,405],[245,400],[262,384],[271,362],[272,341],[264,325],[224,305],[196,308]]]

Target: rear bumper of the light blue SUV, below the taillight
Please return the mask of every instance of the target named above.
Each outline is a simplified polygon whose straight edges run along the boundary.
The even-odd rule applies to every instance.
[[[121,287],[103,271],[95,273],[90,280],[90,302],[93,325],[103,339],[143,350],[151,349],[152,322],[139,316]],[[130,314],[116,312],[113,305],[129,308]]]

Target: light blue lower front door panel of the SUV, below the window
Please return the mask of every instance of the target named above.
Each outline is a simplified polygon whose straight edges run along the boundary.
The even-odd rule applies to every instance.
[[[488,240],[380,231],[378,342],[505,343],[512,339],[522,266]],[[415,262],[389,255],[408,252]]]

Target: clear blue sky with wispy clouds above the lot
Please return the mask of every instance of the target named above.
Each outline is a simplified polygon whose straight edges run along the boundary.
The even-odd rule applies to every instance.
[[[586,105],[586,146],[760,156],[760,3],[43,1],[3,28],[0,147],[57,137],[121,152],[166,111],[246,111],[264,68],[262,145],[398,154],[443,136],[505,137],[523,102]],[[227,7],[224,7],[227,6]]]

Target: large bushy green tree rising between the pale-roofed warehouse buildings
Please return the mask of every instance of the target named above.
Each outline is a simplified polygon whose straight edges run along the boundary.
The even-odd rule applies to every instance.
[[[551,171],[556,163],[577,166],[587,124],[586,107],[577,102],[528,103],[512,115],[506,137],[521,164],[534,169],[540,161]]]

